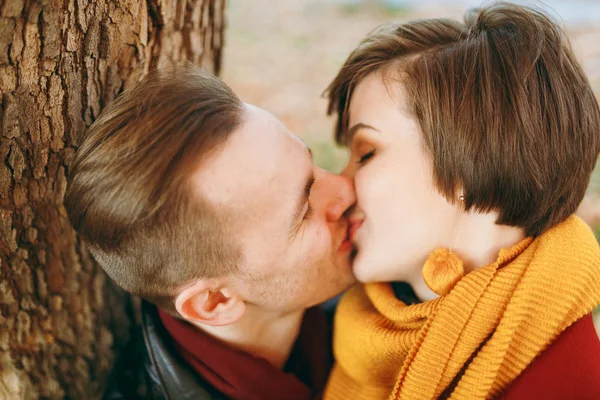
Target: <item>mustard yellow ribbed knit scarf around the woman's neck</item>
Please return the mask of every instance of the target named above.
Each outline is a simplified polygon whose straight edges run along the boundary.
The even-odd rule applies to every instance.
[[[357,285],[338,306],[325,399],[493,398],[598,304],[600,248],[575,216],[433,301]]]

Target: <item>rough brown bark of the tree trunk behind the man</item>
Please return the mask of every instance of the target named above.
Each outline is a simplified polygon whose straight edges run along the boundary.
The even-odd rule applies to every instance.
[[[85,128],[165,60],[216,73],[225,0],[0,0],[0,399],[98,398],[131,314],[70,227]]]

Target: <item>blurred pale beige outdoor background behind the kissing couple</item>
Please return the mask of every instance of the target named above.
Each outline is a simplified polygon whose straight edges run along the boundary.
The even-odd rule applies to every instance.
[[[600,1],[548,0],[600,94]],[[281,119],[311,147],[316,162],[339,172],[347,152],[335,146],[333,119],[321,94],[350,51],[377,25],[450,17],[462,20],[465,0],[229,0],[223,79],[242,100]],[[600,132],[599,132],[600,134]],[[578,213],[600,237],[600,168]]]

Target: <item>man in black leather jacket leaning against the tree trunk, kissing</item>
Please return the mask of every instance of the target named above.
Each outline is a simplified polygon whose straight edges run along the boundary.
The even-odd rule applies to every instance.
[[[188,66],[123,93],[83,138],[65,198],[107,274],[145,299],[105,398],[317,396],[331,360],[314,306],[353,283],[354,202],[348,178],[214,76]]]

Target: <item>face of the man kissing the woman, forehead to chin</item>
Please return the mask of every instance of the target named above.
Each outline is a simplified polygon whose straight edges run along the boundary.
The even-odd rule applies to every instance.
[[[294,311],[354,282],[347,209],[350,179],[313,165],[306,145],[266,111],[244,121],[194,177],[203,197],[232,211],[242,245],[239,295],[249,305]]]

